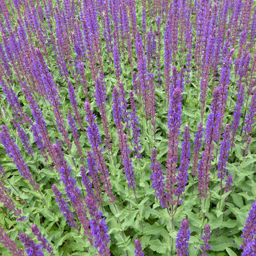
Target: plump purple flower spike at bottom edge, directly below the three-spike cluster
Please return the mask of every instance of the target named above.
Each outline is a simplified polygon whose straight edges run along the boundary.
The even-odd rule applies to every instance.
[[[176,246],[177,256],[188,255],[188,241],[190,237],[189,222],[187,219],[182,220],[179,232],[177,234]]]

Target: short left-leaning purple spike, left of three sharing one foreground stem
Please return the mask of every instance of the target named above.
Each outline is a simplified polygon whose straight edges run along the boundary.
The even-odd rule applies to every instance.
[[[166,207],[166,193],[164,192],[165,184],[163,182],[164,175],[163,169],[161,168],[159,162],[156,159],[157,152],[156,148],[152,148],[152,157],[151,157],[151,165],[150,170],[152,170],[152,175],[150,179],[152,180],[152,188],[156,190],[156,196],[159,199],[161,207]]]

